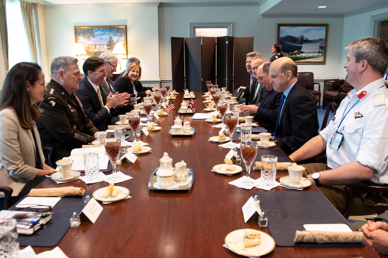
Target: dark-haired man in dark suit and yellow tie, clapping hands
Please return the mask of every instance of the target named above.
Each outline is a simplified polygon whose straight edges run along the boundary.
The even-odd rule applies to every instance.
[[[104,83],[106,77],[106,62],[99,57],[89,57],[83,63],[82,69],[85,78],[80,81],[77,89],[78,97],[83,105],[85,114],[92,120],[100,131],[105,131],[111,124],[111,110],[118,104],[123,103],[126,93],[109,92],[105,98],[99,84]],[[114,111],[114,110],[113,110]]]

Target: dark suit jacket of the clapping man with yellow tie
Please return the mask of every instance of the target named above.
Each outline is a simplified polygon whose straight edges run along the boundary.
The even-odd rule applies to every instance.
[[[79,83],[80,88],[76,90],[78,98],[80,98],[83,105],[83,111],[92,120],[93,124],[100,131],[105,131],[110,124],[110,117],[108,110],[104,107],[101,107],[100,99],[97,95],[97,92],[93,88],[92,84],[88,81],[88,78],[85,76]],[[104,105],[106,104],[107,95],[103,94],[104,92],[100,88],[102,101]]]

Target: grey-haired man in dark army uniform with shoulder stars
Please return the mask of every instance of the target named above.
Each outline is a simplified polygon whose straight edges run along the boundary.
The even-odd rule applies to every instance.
[[[53,160],[68,157],[94,139],[98,129],[82,110],[75,90],[82,77],[73,57],[57,57],[51,63],[51,81],[43,101],[42,117],[36,122],[42,146],[54,147]]]

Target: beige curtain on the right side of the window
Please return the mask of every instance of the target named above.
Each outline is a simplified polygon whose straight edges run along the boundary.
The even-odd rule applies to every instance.
[[[38,53],[36,52],[36,41],[35,41],[35,26],[34,26],[34,16],[33,10],[34,4],[24,1],[20,1],[20,9],[22,11],[22,16],[24,20],[24,25],[26,26],[27,38],[29,41],[29,46],[31,48],[32,57],[34,62],[38,62]]]

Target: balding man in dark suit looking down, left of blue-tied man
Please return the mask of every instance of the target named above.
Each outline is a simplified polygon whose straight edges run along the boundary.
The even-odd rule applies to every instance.
[[[257,67],[255,61],[255,59],[252,61],[253,74],[255,74],[259,83],[266,88],[263,100],[259,107],[256,105],[242,105],[240,110],[243,113],[254,114],[256,122],[261,127],[264,127],[270,133],[274,133],[282,93],[276,92],[269,82],[269,66],[271,62],[265,62]]]

